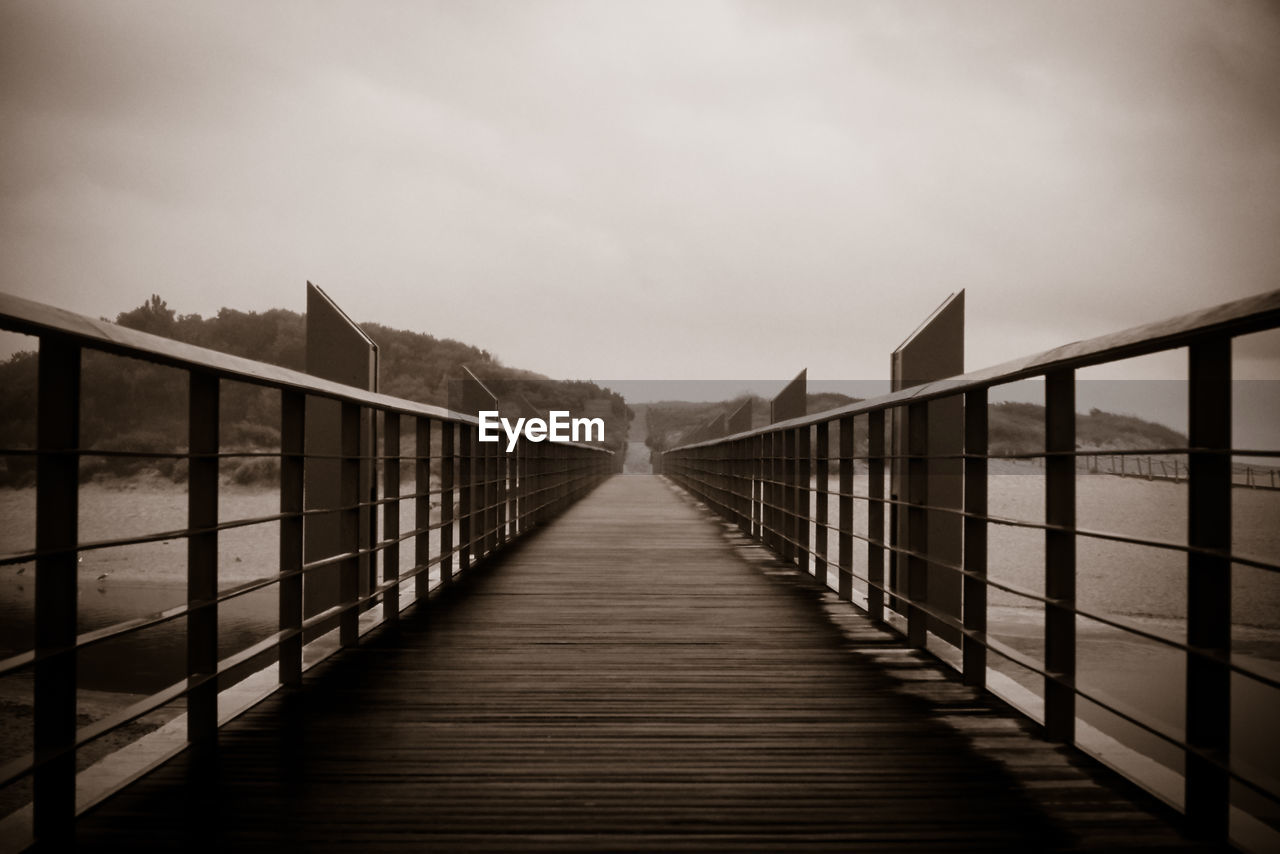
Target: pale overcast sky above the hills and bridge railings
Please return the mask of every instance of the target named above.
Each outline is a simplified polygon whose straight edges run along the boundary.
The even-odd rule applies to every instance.
[[[983,367],[1280,287],[1277,9],[0,0],[0,289],[822,380],[966,288]]]

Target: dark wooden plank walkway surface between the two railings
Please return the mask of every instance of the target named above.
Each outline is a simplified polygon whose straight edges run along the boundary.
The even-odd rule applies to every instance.
[[[617,476],[81,818],[86,850],[1188,844],[666,480]]]

